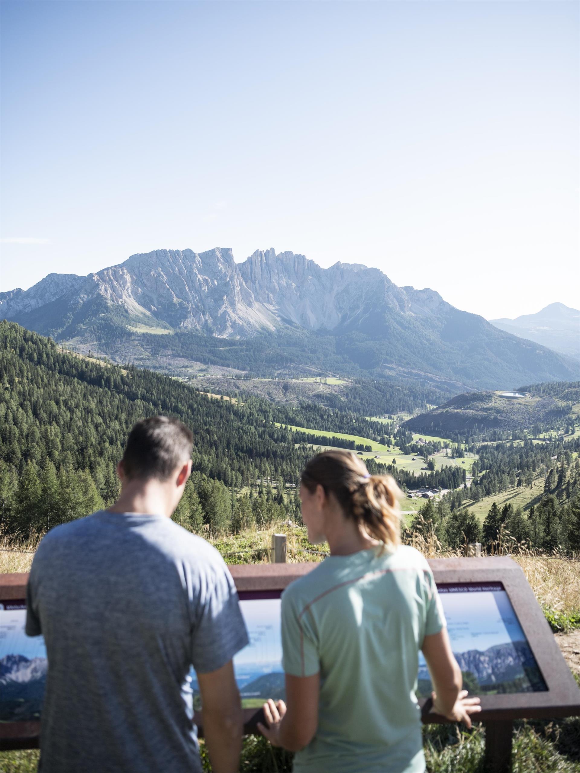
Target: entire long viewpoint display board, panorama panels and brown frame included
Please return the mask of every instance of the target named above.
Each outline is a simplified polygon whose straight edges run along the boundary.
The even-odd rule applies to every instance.
[[[466,688],[481,696],[479,719],[490,738],[519,718],[578,715],[578,688],[561,656],[533,592],[510,558],[430,560],[449,628],[455,658]],[[264,700],[285,697],[281,667],[281,592],[316,564],[257,564],[230,567],[250,644],[234,659],[246,731],[255,729]],[[32,747],[38,742],[46,652],[42,637],[24,633],[26,574],[2,575],[0,587],[0,706],[2,747]],[[123,588],[118,589],[120,594]],[[193,674],[196,722],[203,711]],[[431,693],[421,658],[418,698]],[[425,706],[427,710],[427,706]],[[443,717],[425,714],[428,722]],[[497,769],[497,768],[496,768]]]

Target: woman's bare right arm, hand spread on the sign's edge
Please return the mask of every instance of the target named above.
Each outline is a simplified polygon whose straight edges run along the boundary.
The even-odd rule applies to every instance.
[[[453,655],[447,628],[425,636],[421,649],[435,688],[433,711],[471,727],[470,715],[481,711],[479,698],[468,698],[467,690],[462,690],[461,669]]]

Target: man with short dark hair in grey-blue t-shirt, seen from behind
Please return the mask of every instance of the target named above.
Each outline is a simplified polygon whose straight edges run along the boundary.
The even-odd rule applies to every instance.
[[[135,424],[107,510],[39,545],[26,633],[49,661],[41,771],[201,771],[189,669],[196,669],[214,771],[239,765],[232,658],[247,645],[217,550],[173,523],[193,435],[155,416]]]

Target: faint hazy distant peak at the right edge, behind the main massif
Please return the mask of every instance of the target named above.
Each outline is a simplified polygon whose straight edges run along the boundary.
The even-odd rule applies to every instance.
[[[524,314],[515,319],[490,319],[490,322],[500,330],[580,359],[580,311],[577,308],[551,303],[537,314]]]

